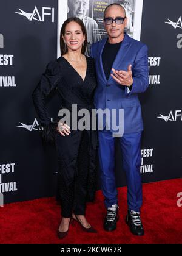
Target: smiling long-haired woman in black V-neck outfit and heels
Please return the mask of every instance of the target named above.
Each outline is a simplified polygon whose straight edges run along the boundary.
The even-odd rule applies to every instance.
[[[78,221],[84,231],[96,232],[87,222],[85,212],[86,202],[93,201],[95,194],[97,135],[95,130],[91,130],[91,120],[90,130],[72,130],[72,104],[77,104],[78,111],[84,108],[91,113],[94,108],[95,65],[93,58],[84,55],[86,45],[83,22],[79,18],[67,19],[61,28],[62,56],[47,65],[32,95],[42,137],[44,140],[54,139],[58,152],[62,215],[59,238],[67,235],[71,218]],[[61,109],[70,111],[70,124],[50,122],[45,98],[54,88],[61,96]],[[78,121],[81,118],[83,116],[77,117]]]

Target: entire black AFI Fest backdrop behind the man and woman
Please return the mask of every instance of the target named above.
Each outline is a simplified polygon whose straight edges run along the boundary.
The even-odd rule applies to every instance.
[[[86,15],[95,20],[97,35],[90,38],[99,40],[104,37],[101,13],[114,1],[84,1],[89,2]],[[116,2],[121,2],[130,15],[127,32],[136,38],[141,29],[141,41],[149,47],[150,86],[140,95],[145,129],[141,150],[143,182],[181,177],[182,2]],[[141,2],[142,20],[137,27],[137,6],[142,10]],[[53,146],[42,147],[32,91],[47,63],[56,59],[61,6],[56,0],[4,0],[0,5],[0,193],[4,203],[54,196],[56,151]],[[62,16],[69,16],[70,11]],[[54,118],[59,110],[55,91],[47,99],[47,107]],[[116,152],[117,182],[123,186],[126,179],[117,143]]]

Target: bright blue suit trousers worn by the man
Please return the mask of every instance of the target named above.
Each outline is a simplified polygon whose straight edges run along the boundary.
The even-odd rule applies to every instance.
[[[141,132],[112,137],[112,132],[99,132],[99,162],[101,171],[101,189],[105,197],[106,208],[118,204],[118,191],[115,179],[115,140],[120,140],[123,154],[123,168],[127,180],[127,205],[129,210],[140,212],[142,205],[141,184]]]

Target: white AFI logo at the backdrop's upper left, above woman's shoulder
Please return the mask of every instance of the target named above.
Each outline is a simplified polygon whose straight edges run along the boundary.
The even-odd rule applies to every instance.
[[[18,8],[19,9],[19,8]],[[25,16],[29,21],[36,20],[36,21],[45,21],[45,15],[52,16],[52,22],[55,21],[55,9],[51,7],[42,7],[42,17],[35,6],[32,13],[24,12],[24,10],[19,9],[20,12],[15,12],[19,15]],[[49,10],[50,12],[46,12],[46,10]]]

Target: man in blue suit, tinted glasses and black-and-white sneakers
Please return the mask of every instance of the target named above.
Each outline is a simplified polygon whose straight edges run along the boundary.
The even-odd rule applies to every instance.
[[[98,117],[98,123],[104,121],[103,130],[99,130],[99,162],[101,169],[101,187],[107,208],[104,229],[116,229],[118,221],[118,198],[115,181],[115,140],[118,131],[108,124],[112,121],[124,127],[119,134],[123,165],[127,178],[128,211],[126,223],[135,235],[144,235],[140,217],[142,205],[141,185],[141,132],[143,119],[138,93],[146,91],[149,81],[147,46],[130,38],[124,33],[127,17],[119,4],[107,6],[104,12],[104,26],[108,38],[92,44],[91,55],[95,58],[98,87],[95,91],[95,107],[101,110],[116,110],[115,115]],[[124,120],[119,110],[124,110]],[[112,120],[114,119],[114,120]],[[121,124],[122,123],[122,124]]]

